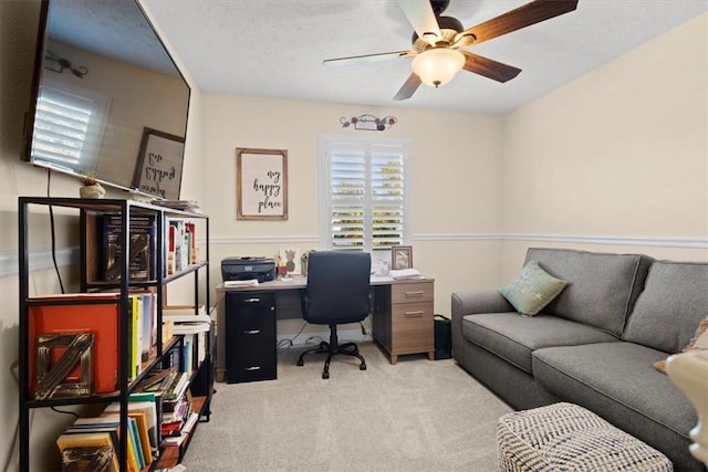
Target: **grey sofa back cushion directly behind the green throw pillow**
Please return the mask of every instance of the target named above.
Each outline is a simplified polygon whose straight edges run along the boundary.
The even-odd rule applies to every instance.
[[[529,261],[537,261],[551,275],[568,282],[543,313],[620,337],[653,259],[642,254],[530,248]]]

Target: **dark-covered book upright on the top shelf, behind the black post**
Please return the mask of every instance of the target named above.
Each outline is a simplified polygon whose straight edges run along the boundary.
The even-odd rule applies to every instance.
[[[155,280],[157,261],[155,238],[157,232],[156,214],[131,214],[131,253],[128,273],[131,281],[146,282]],[[123,224],[121,213],[103,216],[104,280],[121,280],[121,254],[123,253]]]

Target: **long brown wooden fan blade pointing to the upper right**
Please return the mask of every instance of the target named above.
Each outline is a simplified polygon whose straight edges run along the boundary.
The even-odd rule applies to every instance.
[[[535,0],[472,27],[461,34],[473,34],[475,44],[479,44],[531,24],[569,13],[575,10],[576,7],[577,0]]]

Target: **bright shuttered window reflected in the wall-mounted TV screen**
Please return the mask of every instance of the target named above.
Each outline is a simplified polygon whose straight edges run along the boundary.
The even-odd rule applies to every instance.
[[[42,86],[32,136],[34,159],[82,174],[94,171],[110,102],[86,91]]]

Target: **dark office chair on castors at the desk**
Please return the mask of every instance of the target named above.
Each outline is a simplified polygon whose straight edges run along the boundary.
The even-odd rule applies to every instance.
[[[336,325],[361,323],[371,312],[369,276],[372,259],[364,252],[311,252],[308,260],[308,285],[302,291],[302,316],[308,323],[329,325],[330,342],[305,350],[298,358],[311,353],[327,354],[322,378],[330,378],[330,361],[335,354],[353,356],[361,360],[360,370],[366,370],[366,361],[354,343],[339,344]]]

